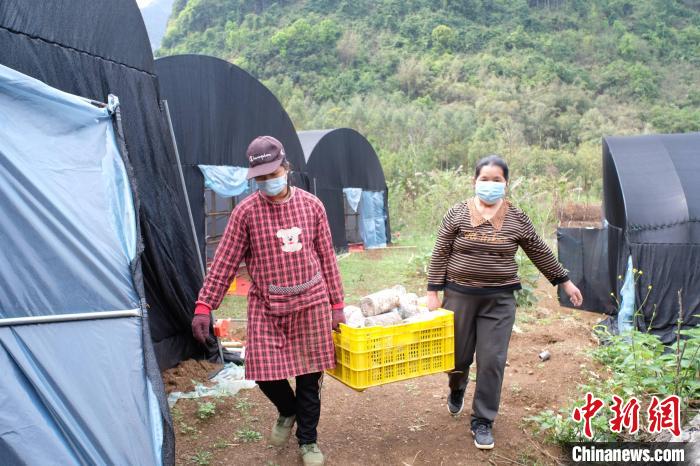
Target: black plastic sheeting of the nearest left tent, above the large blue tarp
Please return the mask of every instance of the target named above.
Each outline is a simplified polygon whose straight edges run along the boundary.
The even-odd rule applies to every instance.
[[[97,101],[121,101],[127,150],[141,202],[143,274],[151,336],[165,369],[212,356],[192,338],[202,276],[159,108],[148,36],[133,0],[3,0],[0,63],[50,86]]]

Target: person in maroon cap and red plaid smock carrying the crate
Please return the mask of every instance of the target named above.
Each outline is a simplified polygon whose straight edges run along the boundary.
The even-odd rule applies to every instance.
[[[199,292],[192,331],[206,341],[211,309],[245,261],[252,278],[245,372],[279,411],[270,442],[286,444],[296,422],[304,465],[322,465],[320,389],[323,371],[335,367],[331,330],[344,322],[328,218],[315,196],[288,185],[289,163],[277,139],[256,138],[246,155],[248,179],[255,178],[260,191],[231,213]],[[296,377],[296,393],[289,377]]]

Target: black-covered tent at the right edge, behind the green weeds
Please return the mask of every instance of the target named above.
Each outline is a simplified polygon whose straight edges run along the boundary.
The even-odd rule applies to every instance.
[[[606,226],[597,242],[607,242],[608,263],[597,294],[622,290],[620,309],[629,318],[639,310],[636,326],[664,343],[676,339],[679,317],[683,328],[700,322],[698,178],[700,133],[603,139]],[[599,260],[588,257],[593,249],[581,256]]]

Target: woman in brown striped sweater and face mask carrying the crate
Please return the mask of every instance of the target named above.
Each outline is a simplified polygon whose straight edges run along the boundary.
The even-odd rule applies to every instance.
[[[519,290],[515,253],[528,257],[575,306],[583,297],[567,271],[535,232],[528,216],[505,199],[508,165],[499,156],[479,161],[476,196],[445,215],[430,261],[428,306],[455,313],[455,369],[449,373],[447,407],[458,415],[464,406],[469,366],[476,352],[477,383],[472,402],[471,431],[477,448],[494,446],[491,432],[498,413],[508,343],[515,321]],[[438,291],[444,290],[442,303]]]

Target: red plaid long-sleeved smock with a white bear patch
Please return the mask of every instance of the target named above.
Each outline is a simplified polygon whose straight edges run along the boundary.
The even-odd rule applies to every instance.
[[[343,287],[321,201],[300,189],[282,203],[255,193],[231,213],[199,303],[221,304],[245,261],[246,378],[280,380],[334,367],[331,306]]]

